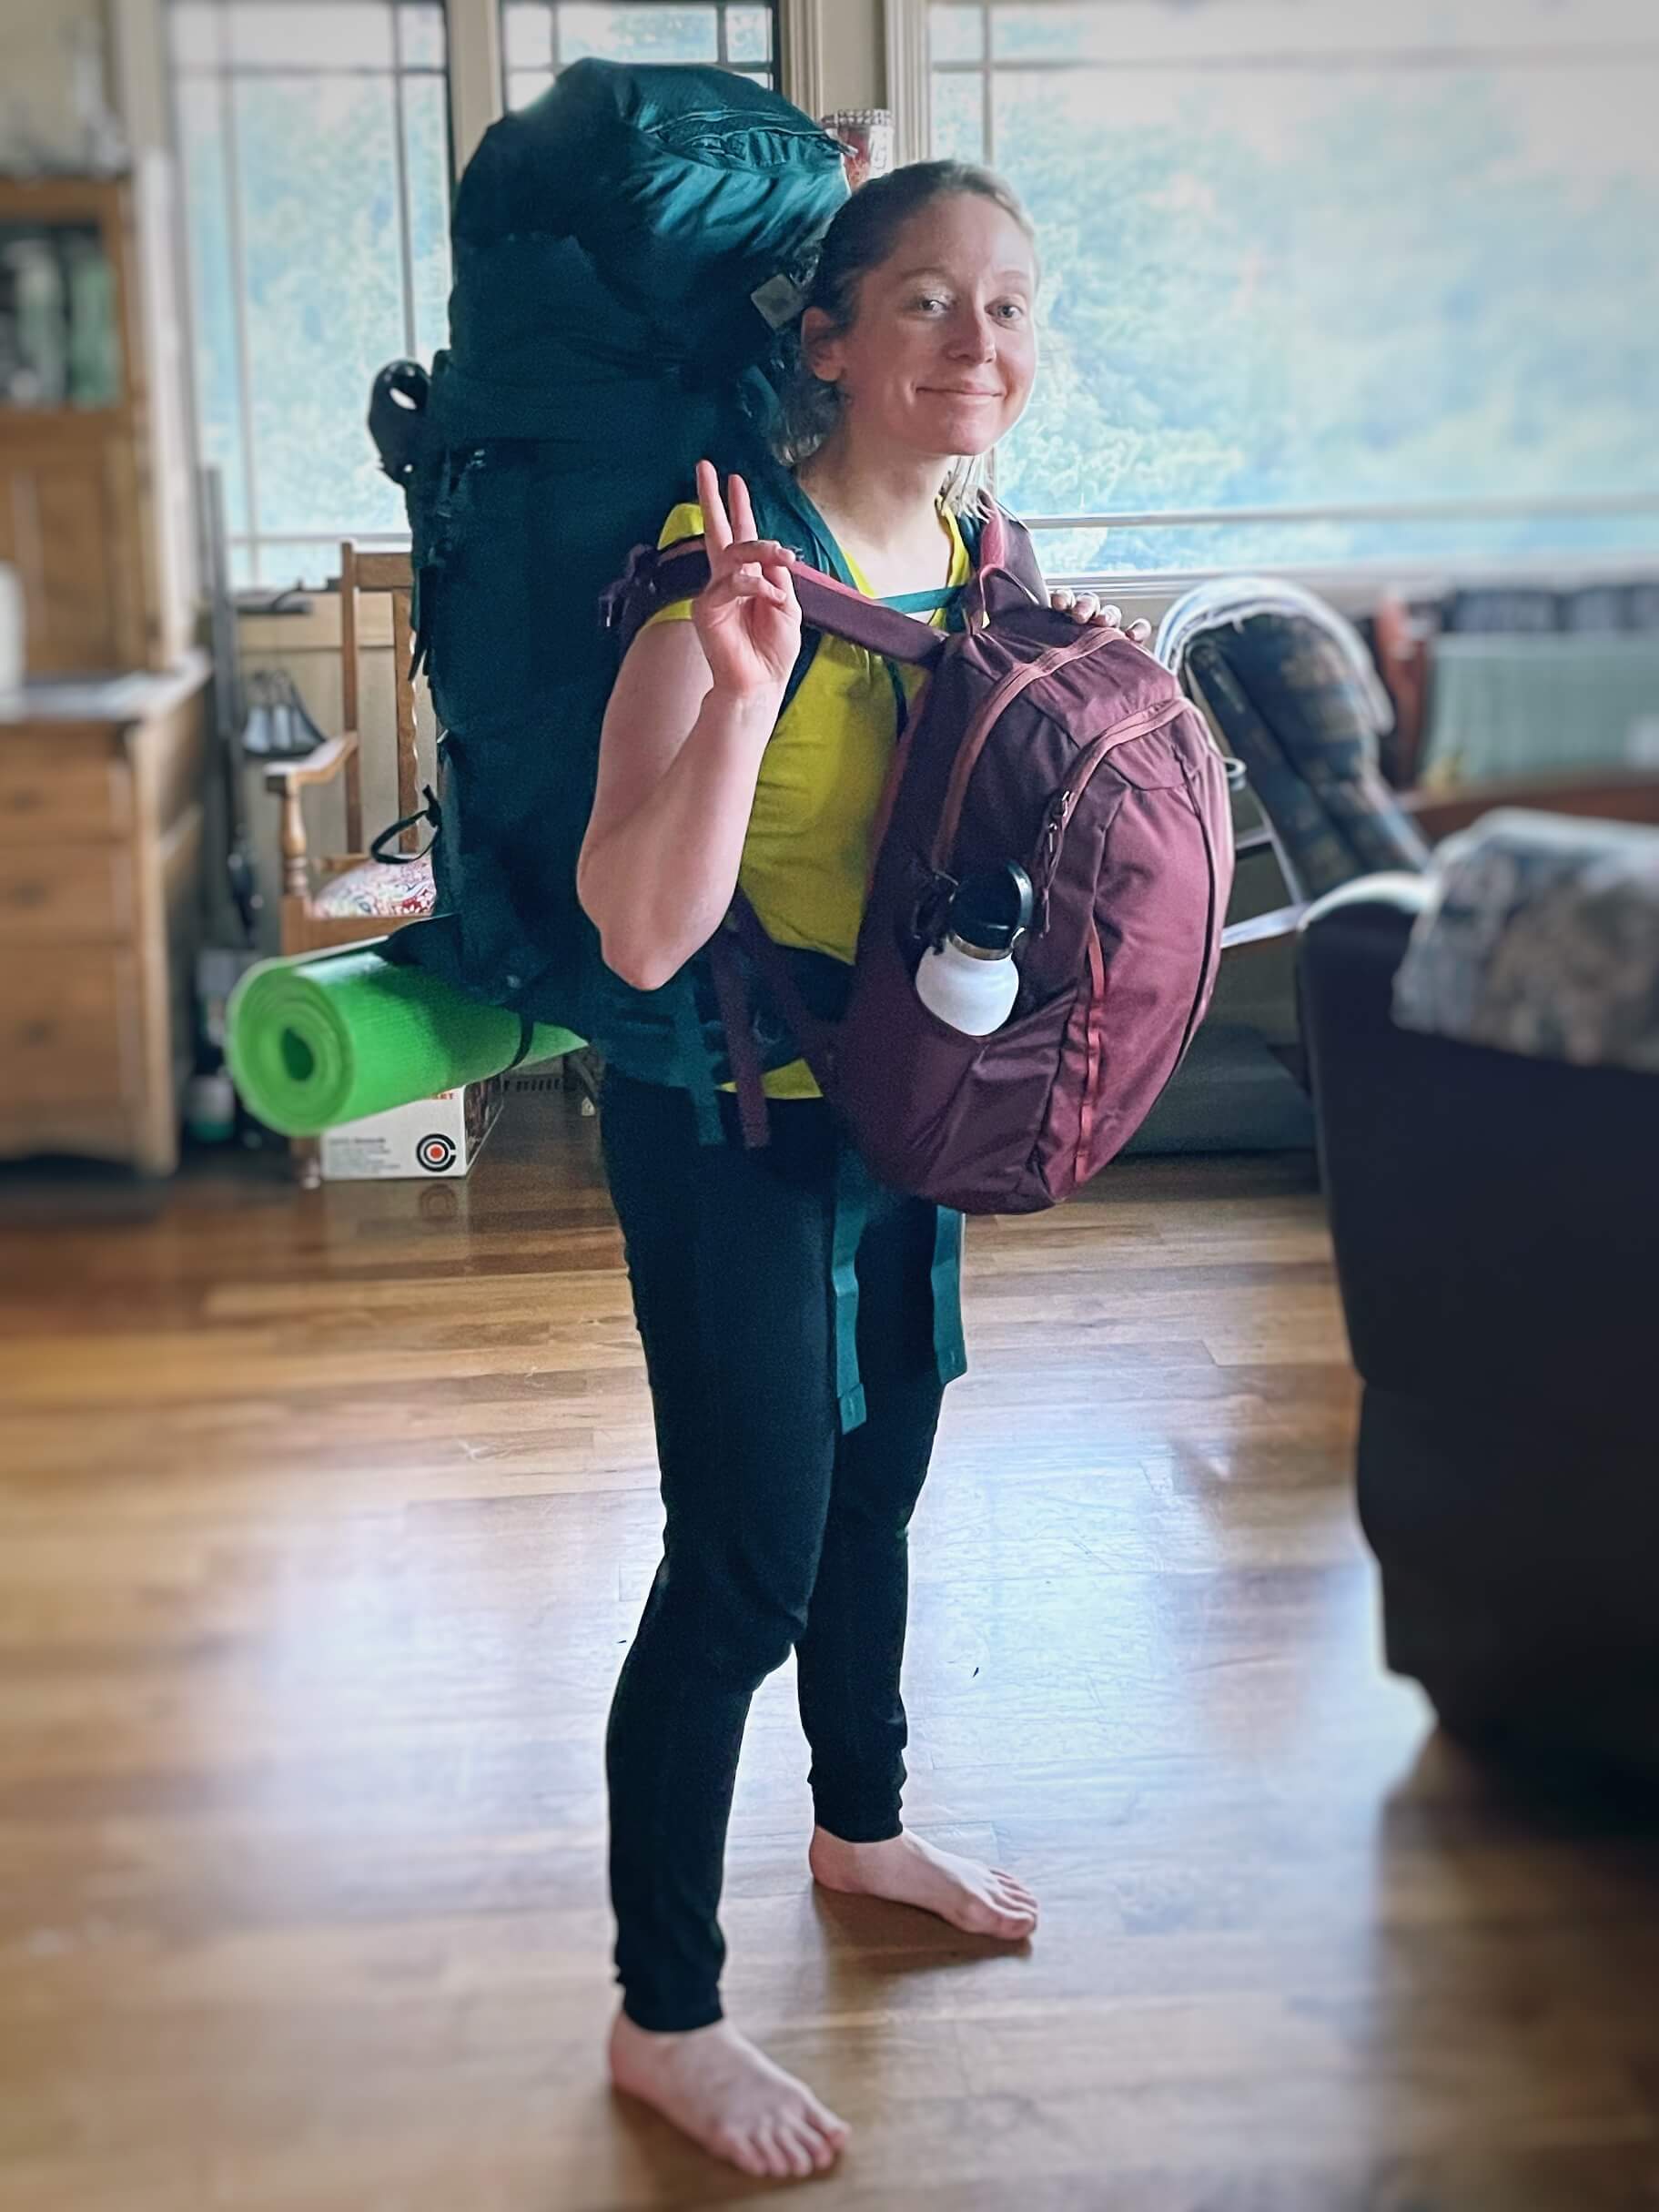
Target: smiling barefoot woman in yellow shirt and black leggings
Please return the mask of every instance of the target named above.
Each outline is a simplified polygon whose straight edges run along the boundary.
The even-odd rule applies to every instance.
[[[785,460],[854,582],[938,591],[971,575],[975,462],[1020,418],[1037,365],[1031,226],[1000,179],[898,170],[847,201],[801,325]],[[796,953],[849,964],[898,730],[887,664],[801,650],[790,551],[748,487],[697,471],[708,588],[635,639],[604,728],[580,891],[606,962],[666,984],[739,885]],[[1117,622],[1055,595],[1079,622]],[[1137,626],[1146,635],[1146,626]],[[911,675],[907,688],[914,690]],[[646,1345],[664,1562],[608,1732],[619,2088],[752,2174],[834,2163],[845,2124],[721,2015],[726,1823],[750,1697],[796,1652],[812,1747],[810,1867],[1020,1942],[1031,1893],[900,1823],[905,1528],[940,1409],[938,1217],[878,1194],[856,1254],[865,1418],[841,1431],[832,1267],[843,1139],[801,1062],[768,1077],[772,1141],[701,1146],[688,1093],[613,1075],[611,1190]],[[728,1133],[730,1133],[730,1099]],[[845,1254],[843,1254],[845,1256]]]

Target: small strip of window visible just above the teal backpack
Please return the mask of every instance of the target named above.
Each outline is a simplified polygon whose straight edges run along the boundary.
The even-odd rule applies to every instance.
[[[776,84],[774,7],[672,7],[630,0],[588,7],[584,0],[504,0],[502,55],[507,106],[522,108],[544,93],[566,62],[717,62],[739,75]]]

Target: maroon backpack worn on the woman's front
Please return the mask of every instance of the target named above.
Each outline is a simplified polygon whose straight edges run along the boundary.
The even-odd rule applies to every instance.
[[[699,573],[695,544],[635,571],[626,633]],[[960,633],[796,566],[810,628],[931,675],[894,757],[845,1018],[805,1009],[741,894],[726,925],[874,1175],[969,1214],[1055,1206],[1128,1144],[1210,1004],[1232,887],[1228,779],[1197,710],[1148,653],[1055,613],[1035,582],[998,509]],[[1002,1029],[964,1037],[920,1002],[916,967],[956,887],[1009,863],[1035,894],[1020,995]],[[765,1141],[730,940],[710,953],[743,1133]]]

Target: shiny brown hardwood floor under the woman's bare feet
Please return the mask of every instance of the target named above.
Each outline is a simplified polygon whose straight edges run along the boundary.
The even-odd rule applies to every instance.
[[[0,1183],[0,2205],[765,2194],[613,2104],[602,1732],[655,1564],[593,1124],[469,1183]],[[971,1234],[914,1544],[907,1812],[1026,1955],[814,1896],[787,1674],[728,2002],[841,2212],[1659,2205],[1659,1851],[1383,1677],[1290,1164]]]

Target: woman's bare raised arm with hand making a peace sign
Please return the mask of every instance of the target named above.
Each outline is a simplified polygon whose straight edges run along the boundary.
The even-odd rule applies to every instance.
[[[761,759],[801,653],[792,555],[754,531],[739,476],[730,515],[697,469],[710,580],[692,622],[639,633],[599,739],[599,787],[577,896],[606,964],[666,984],[721,925],[737,889]]]

